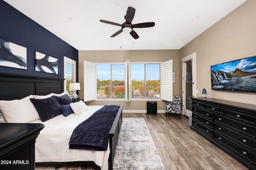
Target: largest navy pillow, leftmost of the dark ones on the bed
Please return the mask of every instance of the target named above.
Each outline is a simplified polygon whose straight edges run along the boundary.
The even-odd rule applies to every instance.
[[[47,121],[61,114],[60,104],[55,96],[46,99],[30,98],[30,101],[35,106],[41,121]]]

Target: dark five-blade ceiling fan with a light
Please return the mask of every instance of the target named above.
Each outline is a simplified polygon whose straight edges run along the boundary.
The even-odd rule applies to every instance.
[[[124,16],[126,21],[123,24],[114,23],[114,22],[106,21],[106,20],[100,20],[100,22],[104,22],[104,23],[108,23],[108,24],[111,24],[111,25],[117,25],[117,26],[122,27],[119,31],[117,31],[116,33],[114,33],[110,37],[115,37],[116,35],[118,35],[118,34],[120,34],[121,32],[124,31],[124,32],[130,33],[130,35],[132,35],[132,37],[134,39],[138,39],[139,35],[133,30],[133,28],[154,27],[155,23],[154,22],[144,22],[144,23],[132,24],[134,14],[135,14],[135,9],[129,6],[128,9],[127,9],[127,12],[126,12],[126,16]]]

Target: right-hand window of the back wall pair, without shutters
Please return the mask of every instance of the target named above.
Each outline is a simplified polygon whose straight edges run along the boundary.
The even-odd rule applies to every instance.
[[[160,63],[132,65],[132,99],[160,99]]]

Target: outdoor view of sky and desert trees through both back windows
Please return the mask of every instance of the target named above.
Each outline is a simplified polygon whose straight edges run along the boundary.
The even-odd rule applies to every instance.
[[[160,64],[131,64],[132,99],[160,98]],[[97,99],[125,98],[125,64],[97,64]]]

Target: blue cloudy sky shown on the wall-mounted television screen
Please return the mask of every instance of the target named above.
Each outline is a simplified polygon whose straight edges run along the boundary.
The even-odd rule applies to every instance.
[[[211,66],[211,70],[230,73],[234,72],[236,68],[246,72],[256,72],[256,56]]]

